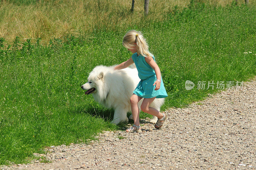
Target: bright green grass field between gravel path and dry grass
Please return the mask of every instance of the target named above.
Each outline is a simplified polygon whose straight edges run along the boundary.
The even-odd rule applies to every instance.
[[[10,8],[3,12],[6,5],[22,11],[19,6],[40,7],[46,6],[45,2],[3,1],[0,15],[7,16],[6,9]],[[61,2],[56,5],[61,6]],[[3,27],[11,27],[13,32],[5,31],[4,35],[1,32],[0,38],[0,165],[26,162],[34,152],[42,153],[45,146],[89,142],[102,130],[122,126],[110,124],[113,110],[103,108],[92,96],[85,96],[80,86],[95,66],[115,65],[130,58],[131,53],[122,47],[122,37],[130,29],[144,34],[160,67],[168,93],[161,110],[184,107],[218,91],[216,88],[186,90],[186,80],[195,84],[236,82],[255,75],[256,6],[198,2],[172,7],[164,11],[162,19],[156,19],[158,15],[154,18],[153,14],[148,17],[137,16],[136,12],[130,14],[127,9],[126,13],[115,14],[127,19],[123,25],[118,22],[116,29],[107,27],[115,23],[103,19],[106,27],[94,23],[96,26],[88,26],[90,31],[84,34],[81,30],[68,34],[71,31],[49,40],[55,34],[52,28],[47,34],[43,31],[41,38],[41,35],[22,35],[25,29],[15,32],[14,25],[1,24],[1,31]],[[11,17],[13,12],[9,13]],[[20,15],[25,13],[29,12]],[[50,26],[60,27],[51,22]],[[8,34],[12,37],[7,38]],[[26,36],[35,39],[24,39]]]

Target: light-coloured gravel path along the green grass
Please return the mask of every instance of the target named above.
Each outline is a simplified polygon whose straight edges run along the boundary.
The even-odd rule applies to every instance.
[[[255,169],[255,92],[256,77],[243,89],[166,110],[161,130],[141,120],[141,133],[107,131],[90,145],[52,147],[45,155],[52,163],[4,169]]]

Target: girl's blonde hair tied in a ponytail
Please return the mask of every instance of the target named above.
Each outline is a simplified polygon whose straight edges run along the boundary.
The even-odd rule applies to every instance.
[[[148,51],[148,44],[141,32],[130,30],[124,35],[123,46],[127,49],[132,49],[132,47],[134,47],[134,43],[137,43],[138,55],[144,57],[153,57],[153,54]]]

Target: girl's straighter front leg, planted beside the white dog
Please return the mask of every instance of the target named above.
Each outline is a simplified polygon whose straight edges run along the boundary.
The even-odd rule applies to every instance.
[[[131,109],[132,109],[132,117],[133,117],[133,120],[134,120],[134,125],[136,125],[136,126],[140,125],[140,119],[139,119],[140,112],[139,112],[138,103],[141,99],[142,99],[142,97],[137,96],[134,93],[133,93],[132,97],[130,98]],[[133,127],[133,128],[135,128],[135,127]]]

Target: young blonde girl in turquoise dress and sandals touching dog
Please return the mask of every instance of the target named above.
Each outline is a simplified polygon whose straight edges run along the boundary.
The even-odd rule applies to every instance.
[[[132,57],[115,66],[114,70],[120,70],[135,63],[139,78],[141,79],[130,98],[134,125],[126,129],[126,132],[141,131],[138,102],[142,98],[144,99],[140,107],[141,111],[156,116],[158,120],[155,128],[160,129],[164,124],[164,120],[167,118],[167,115],[165,113],[160,113],[153,107],[149,107],[149,105],[155,98],[167,97],[167,93],[164,88],[160,69],[156,64],[155,57],[148,51],[146,40],[139,31],[128,31],[124,35],[123,46],[133,53]]]

